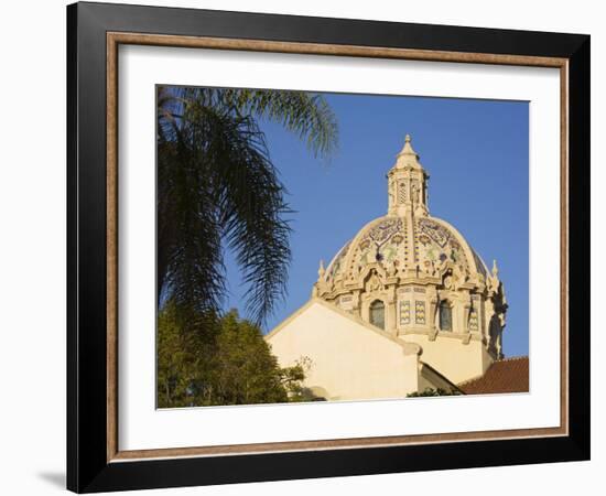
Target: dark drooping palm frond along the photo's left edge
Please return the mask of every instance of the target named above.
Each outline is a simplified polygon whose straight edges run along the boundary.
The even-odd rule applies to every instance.
[[[201,122],[198,122],[199,125]],[[161,291],[197,313],[220,306],[225,270],[220,226],[199,145],[212,126],[175,126],[175,140],[161,143],[158,160],[158,274]]]

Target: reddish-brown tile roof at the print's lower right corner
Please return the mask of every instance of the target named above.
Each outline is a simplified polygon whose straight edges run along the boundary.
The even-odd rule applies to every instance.
[[[458,388],[465,395],[489,395],[499,392],[528,392],[528,356],[516,356],[495,362],[484,376],[461,382]]]

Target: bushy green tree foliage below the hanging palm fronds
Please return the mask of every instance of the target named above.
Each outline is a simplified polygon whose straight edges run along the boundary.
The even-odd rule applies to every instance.
[[[209,327],[202,334],[187,332],[180,321],[171,300],[158,319],[160,408],[311,399],[302,385],[309,360],[280,368],[259,326],[236,311],[201,319]]]

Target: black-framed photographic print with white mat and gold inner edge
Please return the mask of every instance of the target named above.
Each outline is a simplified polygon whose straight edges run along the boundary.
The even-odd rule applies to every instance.
[[[69,489],[589,457],[589,36],[67,21]]]

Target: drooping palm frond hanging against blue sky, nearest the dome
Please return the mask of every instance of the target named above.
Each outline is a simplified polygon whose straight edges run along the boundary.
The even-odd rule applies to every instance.
[[[245,298],[251,320],[261,323],[285,295],[291,260],[289,211],[284,187],[269,159],[263,133],[250,117],[195,109],[196,121],[208,121],[215,140],[204,154],[217,164],[208,175],[221,235],[236,254],[247,285]]]

